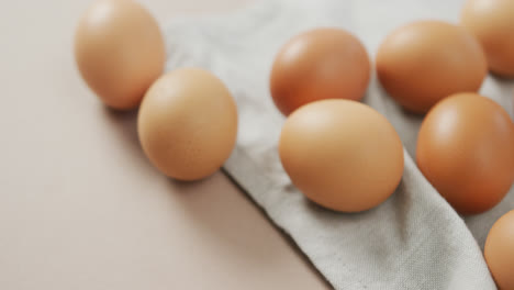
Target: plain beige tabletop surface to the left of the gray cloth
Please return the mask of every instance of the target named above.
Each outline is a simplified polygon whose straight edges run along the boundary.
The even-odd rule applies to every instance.
[[[142,1],[174,15],[252,0]],[[161,176],[135,112],[101,105],[71,40],[90,1],[2,1],[0,289],[329,289],[223,174]]]

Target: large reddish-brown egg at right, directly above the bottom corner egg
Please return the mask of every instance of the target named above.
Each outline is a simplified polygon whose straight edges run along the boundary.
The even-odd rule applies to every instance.
[[[514,125],[493,100],[450,96],[423,121],[416,158],[426,179],[458,212],[487,211],[514,181]]]

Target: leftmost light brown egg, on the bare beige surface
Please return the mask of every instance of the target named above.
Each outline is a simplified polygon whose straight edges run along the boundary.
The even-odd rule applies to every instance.
[[[109,107],[133,109],[163,72],[165,44],[155,19],[131,0],[99,0],[75,34],[82,78]]]

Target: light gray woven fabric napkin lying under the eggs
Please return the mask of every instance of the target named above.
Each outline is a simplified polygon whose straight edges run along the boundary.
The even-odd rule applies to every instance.
[[[399,132],[405,171],[380,207],[336,213],[309,202],[290,182],[278,157],[284,118],[269,94],[269,71],[280,46],[317,26],[357,35],[375,58],[394,29],[420,19],[458,22],[459,1],[260,1],[243,11],[176,19],[165,27],[167,69],[213,71],[233,92],[239,112],[237,146],[226,171],[298,243],[335,289],[495,289],[481,248],[494,221],[514,208],[514,190],[493,210],[459,216],[416,168],[422,118],[402,111],[372,77],[364,101]],[[488,77],[481,92],[512,115],[513,83]]]

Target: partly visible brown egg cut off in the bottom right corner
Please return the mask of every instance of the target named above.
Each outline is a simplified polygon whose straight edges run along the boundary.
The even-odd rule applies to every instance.
[[[483,252],[498,287],[501,290],[514,289],[514,211],[494,223]]]

